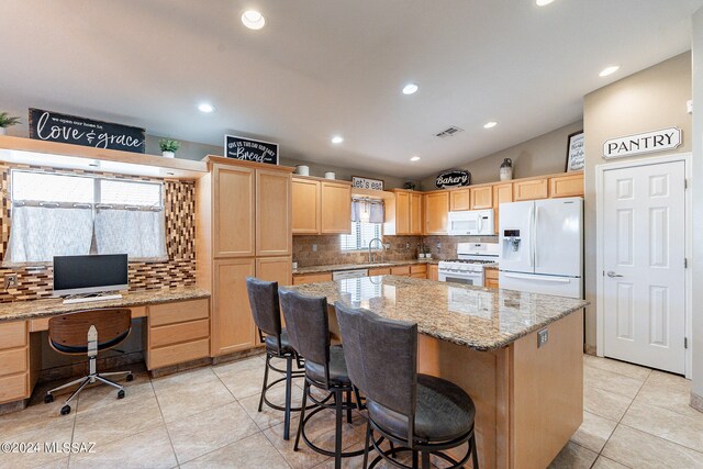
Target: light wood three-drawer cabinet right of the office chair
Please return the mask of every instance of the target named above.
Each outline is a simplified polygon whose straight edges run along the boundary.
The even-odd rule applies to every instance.
[[[149,370],[210,356],[210,300],[148,306]]]

